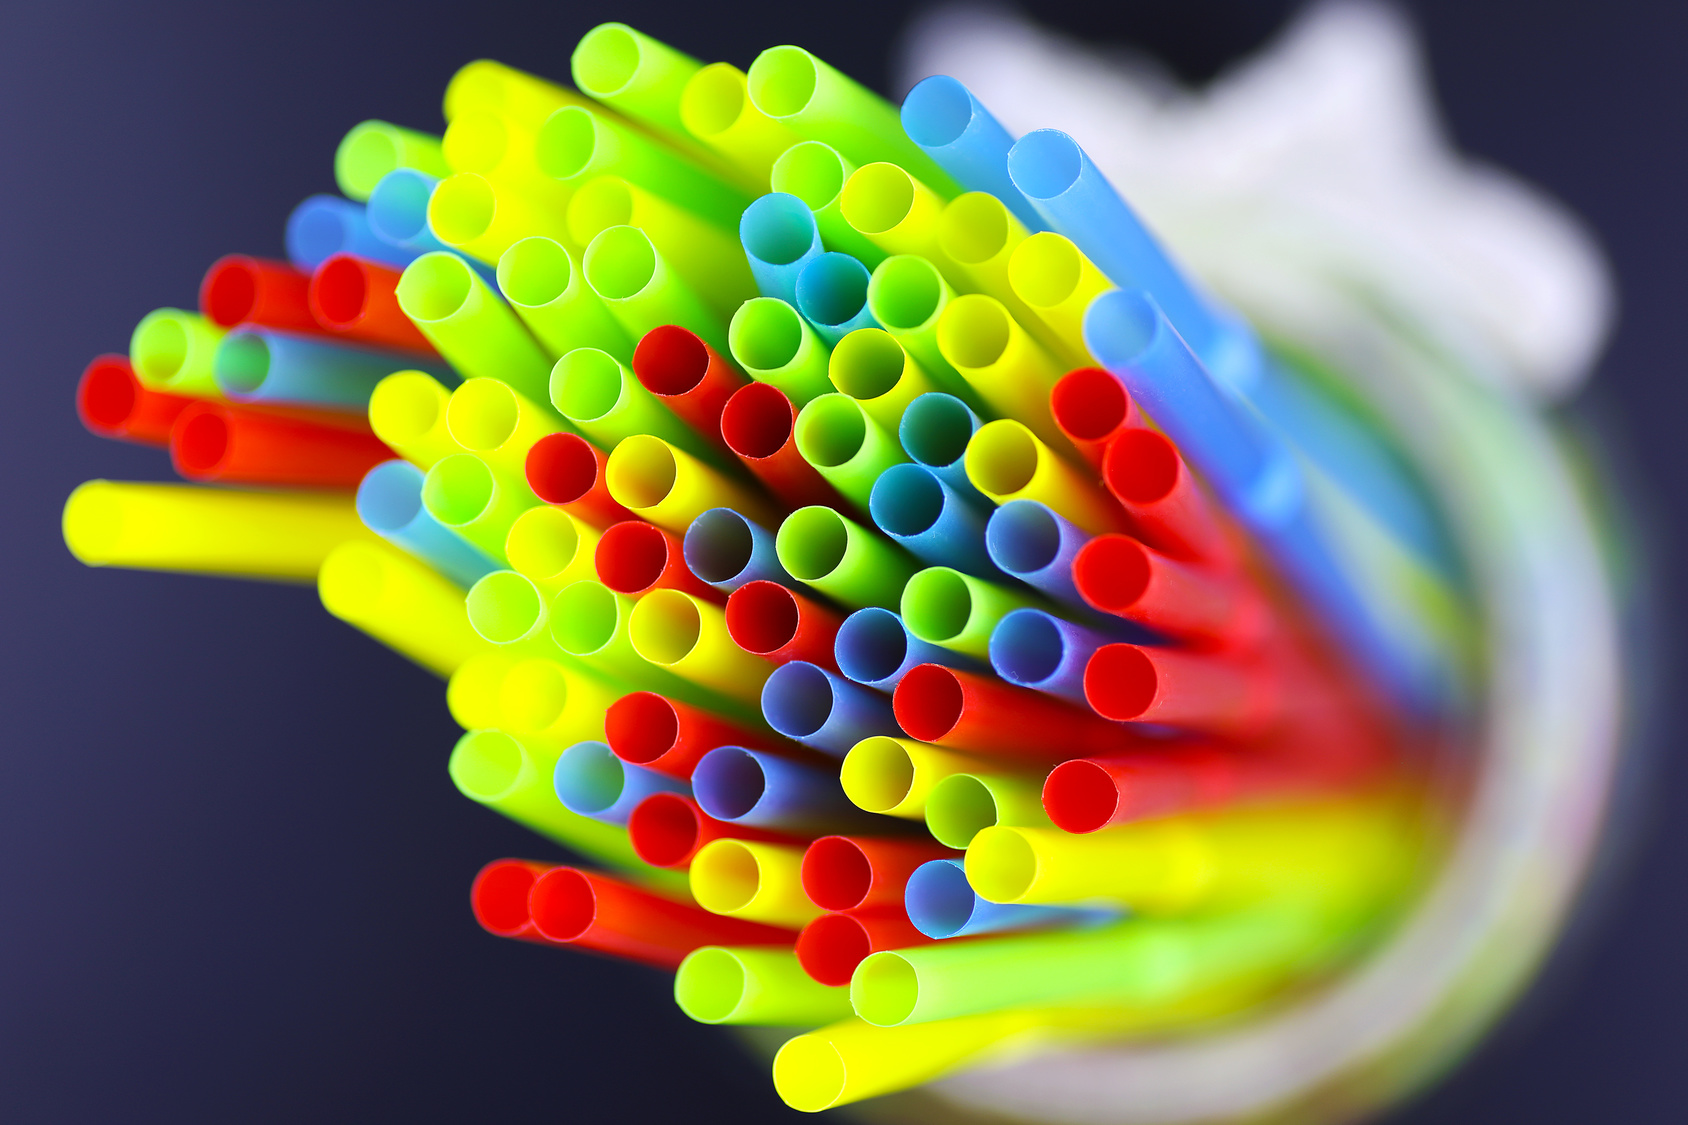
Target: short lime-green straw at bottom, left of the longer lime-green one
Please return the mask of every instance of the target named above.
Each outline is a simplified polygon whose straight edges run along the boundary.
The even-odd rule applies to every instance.
[[[815,1027],[851,1014],[849,990],[817,983],[790,949],[706,946],[680,963],[674,998],[699,1024]]]

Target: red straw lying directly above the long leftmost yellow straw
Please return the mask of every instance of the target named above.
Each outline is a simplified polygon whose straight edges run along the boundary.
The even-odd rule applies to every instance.
[[[170,427],[170,463],[187,480],[356,488],[388,449],[366,427],[309,422],[219,402],[196,402]]]

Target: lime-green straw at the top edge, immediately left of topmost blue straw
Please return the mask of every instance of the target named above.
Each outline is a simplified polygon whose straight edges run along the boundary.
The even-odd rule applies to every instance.
[[[768,47],[746,74],[751,103],[800,137],[824,140],[856,164],[893,160],[945,196],[955,182],[903,133],[879,95],[802,47]]]

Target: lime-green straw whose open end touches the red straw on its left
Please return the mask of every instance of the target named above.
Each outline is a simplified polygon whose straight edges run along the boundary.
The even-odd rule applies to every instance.
[[[550,360],[456,253],[436,250],[405,267],[398,306],[464,378],[496,378],[545,402]]]

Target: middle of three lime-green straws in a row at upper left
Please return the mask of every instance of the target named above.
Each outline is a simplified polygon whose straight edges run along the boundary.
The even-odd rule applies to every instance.
[[[550,355],[598,348],[626,361],[633,340],[555,238],[518,238],[498,258],[498,287]]]

